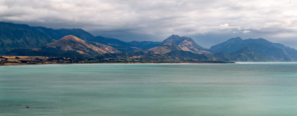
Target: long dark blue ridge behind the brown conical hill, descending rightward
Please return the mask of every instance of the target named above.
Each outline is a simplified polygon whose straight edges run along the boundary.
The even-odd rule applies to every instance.
[[[55,42],[66,35],[74,35],[85,42],[97,42],[114,47],[122,52],[133,52],[141,49],[148,49],[154,46],[155,42],[135,45],[135,42],[127,43],[114,38],[93,36],[82,29],[59,29],[54,30],[46,27],[31,27],[26,24],[14,24],[0,22],[0,53],[16,49],[39,48],[46,44]],[[152,48],[152,47],[151,47]]]

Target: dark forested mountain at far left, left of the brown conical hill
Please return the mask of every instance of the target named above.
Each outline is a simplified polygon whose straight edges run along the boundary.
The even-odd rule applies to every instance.
[[[0,22],[0,53],[23,48],[38,48],[56,41],[39,28]]]

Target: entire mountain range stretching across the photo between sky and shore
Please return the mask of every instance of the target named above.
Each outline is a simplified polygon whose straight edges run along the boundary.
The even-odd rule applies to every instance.
[[[231,38],[206,49],[191,37],[171,35],[162,42],[124,42],[82,29],[53,30],[0,22],[0,53],[108,59],[294,62],[297,50],[263,38]]]

